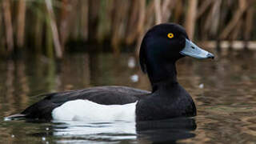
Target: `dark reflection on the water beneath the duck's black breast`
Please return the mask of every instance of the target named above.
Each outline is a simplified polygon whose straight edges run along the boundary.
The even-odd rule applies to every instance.
[[[173,118],[162,121],[137,122],[137,138],[155,143],[175,143],[178,140],[193,138],[197,128],[194,118]]]

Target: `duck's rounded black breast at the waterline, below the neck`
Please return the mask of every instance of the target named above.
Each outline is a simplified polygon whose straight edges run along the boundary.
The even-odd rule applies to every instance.
[[[168,87],[168,88],[167,88]],[[136,121],[159,120],[196,115],[196,106],[190,94],[178,83],[156,90],[138,101]]]

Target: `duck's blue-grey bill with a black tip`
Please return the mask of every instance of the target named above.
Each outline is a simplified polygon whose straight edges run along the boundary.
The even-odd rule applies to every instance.
[[[196,46],[189,39],[186,39],[186,46],[182,51],[180,51],[180,53],[186,56],[199,58],[199,59],[214,58],[214,54],[211,54],[206,50],[202,50],[200,47]]]

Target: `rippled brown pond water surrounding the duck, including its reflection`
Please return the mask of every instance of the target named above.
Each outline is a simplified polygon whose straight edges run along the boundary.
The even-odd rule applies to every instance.
[[[150,90],[134,54],[68,54],[62,62],[42,56],[1,60],[0,142],[254,143],[256,52],[216,55],[215,60],[182,58],[177,64],[178,80],[194,98],[198,116],[138,123],[4,121],[41,99],[39,94],[106,85]]]

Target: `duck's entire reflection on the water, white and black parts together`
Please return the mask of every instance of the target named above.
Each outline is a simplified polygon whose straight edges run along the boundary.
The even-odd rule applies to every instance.
[[[160,142],[175,143],[192,138],[194,118],[173,118],[148,122],[54,122],[52,130],[59,141],[72,139],[97,142]]]

